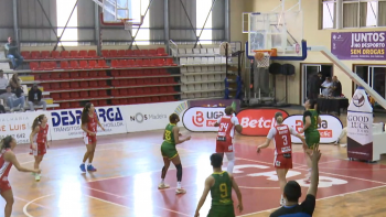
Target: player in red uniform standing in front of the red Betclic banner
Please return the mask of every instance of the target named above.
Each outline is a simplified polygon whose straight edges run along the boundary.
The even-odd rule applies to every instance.
[[[221,153],[228,160],[227,172],[233,173],[233,167],[235,166],[235,152],[234,152],[234,137],[235,129],[238,133],[242,133],[243,127],[239,124],[237,117],[234,115],[234,109],[228,106],[225,108],[225,116],[221,117],[214,127],[218,128],[218,133],[216,138],[216,153]]]

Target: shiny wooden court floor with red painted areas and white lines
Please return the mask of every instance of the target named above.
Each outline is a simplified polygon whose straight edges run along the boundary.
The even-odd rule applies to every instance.
[[[290,110],[290,113],[300,111]],[[345,122],[345,117],[341,117]],[[380,121],[383,117],[376,117]],[[82,174],[79,164],[85,151],[81,139],[52,142],[43,160],[42,178],[36,183],[29,173],[11,170],[14,194],[14,217],[185,217],[193,216],[205,178],[212,173],[210,154],[214,152],[215,133],[192,133],[192,140],[178,147],[185,195],[175,195],[175,170],[171,165],[167,183],[171,188],[159,191],[162,169],[160,143],[162,131],[98,137],[95,173]],[[236,138],[235,177],[243,198],[243,213],[237,216],[262,217],[278,208],[280,192],[272,167],[274,151],[256,153],[265,138]],[[344,141],[343,141],[344,142]],[[302,182],[307,174],[300,144],[293,144],[294,169],[288,180]],[[386,216],[386,165],[346,160],[345,148],[321,145],[320,188],[314,216]],[[28,145],[17,147],[17,158],[32,167]],[[226,161],[224,166],[226,165]],[[307,187],[302,187],[303,197]],[[236,200],[236,197],[234,195]],[[210,209],[208,195],[201,216]],[[0,207],[4,206],[0,199]],[[0,215],[1,216],[1,215]]]

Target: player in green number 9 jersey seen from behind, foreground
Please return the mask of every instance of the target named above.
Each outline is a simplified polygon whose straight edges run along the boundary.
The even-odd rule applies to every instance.
[[[225,171],[222,171],[223,155],[214,153],[211,155],[213,174],[205,180],[205,188],[194,217],[200,216],[200,209],[204,205],[207,194],[211,192],[212,207],[207,217],[235,217],[235,210],[232,200],[232,188],[235,189],[238,199],[238,210],[243,211],[242,192],[234,177]]]

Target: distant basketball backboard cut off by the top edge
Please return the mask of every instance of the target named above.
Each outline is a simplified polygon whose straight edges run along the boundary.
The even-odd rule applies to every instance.
[[[121,23],[121,19],[130,19],[132,23],[140,23],[143,6],[142,0],[103,0],[104,23]]]

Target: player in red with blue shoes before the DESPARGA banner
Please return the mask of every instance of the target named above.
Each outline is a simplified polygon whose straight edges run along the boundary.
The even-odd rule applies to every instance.
[[[88,159],[88,165],[87,171],[88,172],[95,172],[96,169],[92,165],[95,148],[96,148],[96,132],[98,129],[98,126],[101,128],[103,131],[105,131],[105,128],[100,124],[98,117],[95,112],[94,105],[88,102],[86,104],[85,108],[82,112],[82,130],[83,132],[83,140],[86,144],[87,151],[85,153],[85,156],[83,158],[83,162],[81,164],[81,171],[86,172],[85,163]]]

